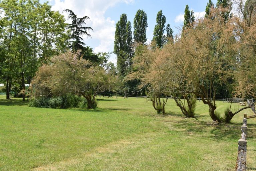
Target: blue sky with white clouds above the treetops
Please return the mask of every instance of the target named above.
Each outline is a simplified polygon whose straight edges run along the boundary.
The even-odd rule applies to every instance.
[[[86,26],[92,27],[91,38],[84,38],[84,43],[90,46],[94,53],[112,52],[114,50],[115,26],[120,15],[127,14],[127,20],[133,25],[133,19],[137,10],[144,10],[148,17],[147,39],[148,43],[153,38],[156,25],[156,15],[162,10],[166,17],[166,24],[170,24],[174,35],[179,33],[178,27],[182,27],[185,6],[194,10],[195,17],[205,15],[205,7],[209,0],[49,0],[52,10],[62,11],[70,9],[78,17],[88,16]],[[40,0],[40,2],[46,2]],[[216,4],[217,0],[213,0]],[[66,13],[63,13],[67,19]],[[67,20],[68,23],[71,21]],[[133,28],[132,28],[133,31]],[[111,55],[110,61],[116,63],[116,56]]]

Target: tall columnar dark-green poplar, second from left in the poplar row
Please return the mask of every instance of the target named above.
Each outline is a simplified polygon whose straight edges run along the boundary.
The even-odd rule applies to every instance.
[[[133,20],[133,36],[136,43],[145,44],[147,41],[146,31],[148,27],[147,14],[143,10],[138,10]]]

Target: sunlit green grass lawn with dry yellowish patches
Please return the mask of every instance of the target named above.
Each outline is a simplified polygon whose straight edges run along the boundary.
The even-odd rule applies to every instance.
[[[217,102],[224,113],[230,103]],[[232,108],[239,108],[233,104]],[[1,171],[231,171],[243,114],[211,125],[197,102],[185,118],[172,99],[157,115],[144,98],[99,98],[98,108],[43,109],[0,96]],[[248,120],[247,170],[256,170],[256,119]]]

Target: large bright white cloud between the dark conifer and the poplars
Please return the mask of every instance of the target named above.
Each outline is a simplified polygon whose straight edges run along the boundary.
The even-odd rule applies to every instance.
[[[93,31],[90,31],[92,39],[84,37],[85,44],[88,42],[99,42],[96,47],[93,47],[95,53],[97,52],[110,52],[113,51],[113,42],[115,35],[115,21],[111,18],[106,18],[105,12],[107,9],[115,6],[117,3],[133,3],[134,0],[50,0],[53,4],[52,10],[62,11],[64,9],[72,10],[78,17],[88,16],[90,20],[87,20],[86,26],[92,27]],[[67,19],[68,14],[63,13]],[[71,21],[68,20],[70,23]]]

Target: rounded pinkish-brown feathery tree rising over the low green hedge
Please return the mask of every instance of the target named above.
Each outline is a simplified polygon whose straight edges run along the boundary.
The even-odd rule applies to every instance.
[[[107,74],[102,67],[79,59],[78,55],[67,52],[54,56],[51,64],[40,67],[31,84],[33,95],[81,94],[86,98],[88,108],[95,108],[96,95],[114,85],[115,77]]]

